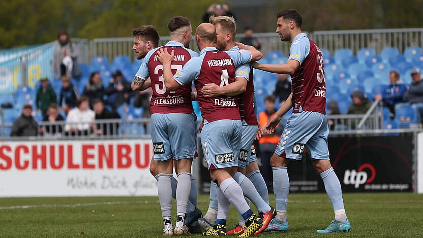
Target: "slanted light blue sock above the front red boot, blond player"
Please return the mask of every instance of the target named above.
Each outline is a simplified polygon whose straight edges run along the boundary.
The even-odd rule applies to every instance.
[[[257,207],[257,210],[262,213],[266,213],[270,211],[270,206],[267,204],[263,198],[261,198],[260,194],[257,192],[256,188],[254,187],[253,183],[246,177],[244,174],[240,172],[236,172],[233,175],[233,179],[239,184],[239,187],[243,190],[244,196],[250,199],[254,205]],[[243,215],[244,216],[244,215]]]

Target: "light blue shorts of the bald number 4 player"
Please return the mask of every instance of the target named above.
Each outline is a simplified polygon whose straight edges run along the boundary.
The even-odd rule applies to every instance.
[[[239,120],[204,121],[201,144],[208,169],[238,165],[242,130]]]

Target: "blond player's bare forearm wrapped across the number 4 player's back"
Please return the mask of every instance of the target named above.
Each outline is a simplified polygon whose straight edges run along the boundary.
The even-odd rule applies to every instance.
[[[206,83],[203,86],[203,96],[205,98],[215,98],[221,95],[236,96],[247,90],[247,79],[244,77],[236,77],[235,82],[226,86],[218,86],[215,83]]]

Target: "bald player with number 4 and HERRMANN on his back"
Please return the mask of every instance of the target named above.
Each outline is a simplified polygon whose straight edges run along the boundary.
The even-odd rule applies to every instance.
[[[202,87],[205,83],[216,83],[221,86],[241,86],[242,78],[235,79],[235,68],[261,58],[261,53],[251,47],[252,53],[246,50],[221,52],[214,47],[216,29],[210,23],[202,23],[197,27],[195,40],[201,50],[199,57],[193,57],[183,69],[172,75],[171,62],[174,50],[169,54],[167,49],[160,49],[159,61],[163,64],[165,85],[169,90],[195,80],[198,103],[204,120],[201,131],[203,152],[210,170],[211,179],[216,180],[218,189],[218,219],[216,225],[204,235],[225,235],[226,219],[230,203],[243,214],[246,221],[244,233],[247,237],[260,229],[263,221],[256,217],[244,199],[243,191],[229,173],[235,166],[240,149],[241,121],[236,100],[233,97],[203,97]]]

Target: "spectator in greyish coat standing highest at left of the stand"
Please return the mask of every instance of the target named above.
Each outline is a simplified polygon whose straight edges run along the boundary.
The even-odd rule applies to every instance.
[[[67,76],[68,78],[78,78],[81,76],[81,69],[78,65],[78,52],[75,45],[65,31],[57,34],[57,42],[54,46],[52,70],[56,78]]]

